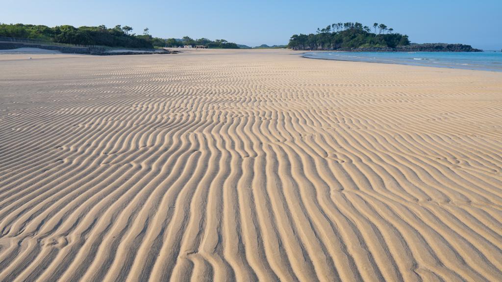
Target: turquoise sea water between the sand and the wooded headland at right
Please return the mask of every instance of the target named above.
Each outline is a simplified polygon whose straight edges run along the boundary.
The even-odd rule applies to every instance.
[[[307,52],[306,58],[502,71],[501,52]]]

